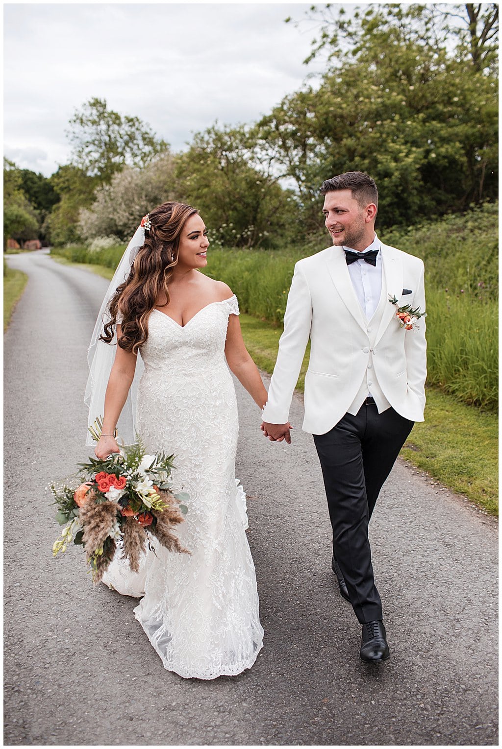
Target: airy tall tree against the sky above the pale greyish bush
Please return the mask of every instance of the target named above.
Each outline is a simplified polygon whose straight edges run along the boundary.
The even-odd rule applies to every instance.
[[[76,166],[104,183],[124,166],[142,168],[169,148],[148,124],[113,112],[105,99],[97,98],[75,111],[67,136],[73,144]]]

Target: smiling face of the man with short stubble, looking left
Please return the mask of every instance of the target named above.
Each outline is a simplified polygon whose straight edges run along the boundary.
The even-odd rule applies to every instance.
[[[372,243],[374,231],[365,207],[352,197],[352,190],[338,189],[324,195],[324,225],[333,244],[360,252]]]

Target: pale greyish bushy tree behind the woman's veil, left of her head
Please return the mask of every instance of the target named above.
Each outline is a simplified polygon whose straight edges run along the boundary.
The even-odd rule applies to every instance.
[[[142,216],[168,200],[177,199],[174,159],[170,154],[136,169],[126,166],[94,194],[91,207],[79,212],[79,234],[85,240],[115,236],[127,241]]]

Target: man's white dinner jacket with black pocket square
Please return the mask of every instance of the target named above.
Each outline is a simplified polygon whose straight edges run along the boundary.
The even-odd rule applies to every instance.
[[[425,312],[423,261],[381,243],[382,294]],[[402,294],[403,291],[411,291]],[[310,339],[305,376],[304,431],[325,434],[345,415],[366,378],[369,366],[390,405],[411,421],[423,421],[426,403],[426,322],[405,330],[396,307],[380,305],[371,324],[354,292],[345,253],[332,246],[303,258],[294,276],[284,315],[284,333],[273,369],[263,420],[288,421],[303,355]]]

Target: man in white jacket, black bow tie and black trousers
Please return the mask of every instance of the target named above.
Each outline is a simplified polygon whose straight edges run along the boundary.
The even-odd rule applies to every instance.
[[[321,187],[333,246],[300,260],[284,316],[261,429],[291,443],[288,413],[310,339],[303,429],[313,435],[333,527],[333,572],[363,625],[360,657],[390,657],[373,579],[368,522],[381,487],[426,402],[423,262],[375,234],[378,190],[363,172]],[[397,305],[390,303],[396,297]]]

